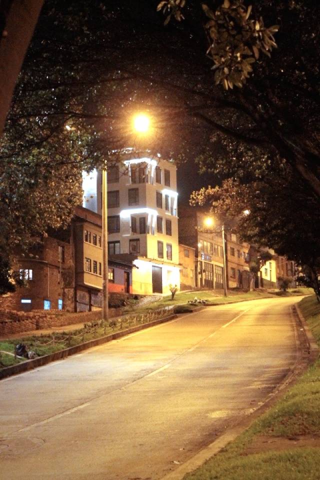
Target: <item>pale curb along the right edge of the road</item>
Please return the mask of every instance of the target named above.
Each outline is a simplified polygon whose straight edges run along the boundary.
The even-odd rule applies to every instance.
[[[233,427],[228,429],[228,431],[223,433],[206,447],[199,450],[195,455],[186,460],[176,469],[170,471],[169,473],[161,477],[160,480],[182,480],[187,473],[192,473],[196,468],[203,465],[205,461],[216,455],[222,448],[224,448],[231,441],[234,441],[244,430],[246,430],[254,420],[256,420],[265,411],[267,411],[277,401],[279,394],[282,393],[283,390],[285,391],[291,385],[291,383],[298,376],[300,376],[301,373],[305,371],[311,363],[316,360],[319,355],[320,348],[314,340],[313,335],[306,323],[304,316],[302,315],[298,304],[295,303],[294,307],[297,312],[299,322],[304,330],[309,346],[309,355],[307,361],[303,363],[302,369],[295,365],[295,367],[293,367],[293,369],[288,372],[288,374],[276,387],[276,389],[268,395],[268,397],[261,406],[253,410],[249,415],[247,415],[243,420],[241,420],[238,425],[234,425]],[[301,353],[302,345],[300,342],[299,348]]]

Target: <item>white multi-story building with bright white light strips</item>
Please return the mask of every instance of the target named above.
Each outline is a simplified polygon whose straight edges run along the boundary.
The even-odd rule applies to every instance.
[[[101,173],[83,176],[83,206],[101,214]],[[130,152],[107,171],[108,253],[133,253],[133,293],[179,287],[176,167]]]

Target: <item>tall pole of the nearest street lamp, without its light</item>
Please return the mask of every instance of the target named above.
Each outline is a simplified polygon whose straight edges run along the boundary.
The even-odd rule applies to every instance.
[[[108,319],[108,205],[106,169],[102,168],[102,320]]]

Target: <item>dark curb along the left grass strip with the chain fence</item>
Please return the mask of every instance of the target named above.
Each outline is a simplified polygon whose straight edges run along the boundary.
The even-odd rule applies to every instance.
[[[177,315],[175,313],[171,313],[168,316],[158,318],[157,320],[151,321],[149,323],[142,323],[141,325],[132,326],[131,328],[127,328],[126,330],[117,331],[115,333],[101,336],[93,340],[85,341],[83,343],[79,343],[78,345],[70,346],[69,348],[64,348],[63,350],[59,350],[54,353],[49,353],[48,355],[39,356],[38,358],[34,358],[32,360],[25,360],[22,363],[18,363],[17,365],[7,366],[0,370],[0,380],[8,376],[17,375],[18,373],[23,373],[28,370],[33,370],[34,368],[46,365],[47,363],[51,363],[52,361],[67,358],[70,355],[74,355],[75,353],[86,350],[87,348],[91,348],[92,346],[98,346],[102,345],[103,343],[108,343],[109,341],[116,340],[117,338],[121,338],[122,336],[129,335],[130,333],[134,333],[136,331],[144,330],[145,328],[150,328],[151,326],[164,323],[176,317]]]

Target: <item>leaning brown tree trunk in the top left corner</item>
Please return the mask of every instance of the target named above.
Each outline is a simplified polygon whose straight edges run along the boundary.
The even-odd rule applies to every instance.
[[[43,0],[11,0],[0,5],[0,135],[42,4]]]

